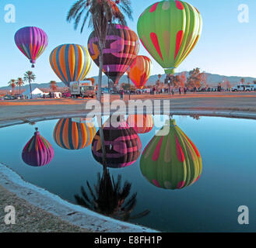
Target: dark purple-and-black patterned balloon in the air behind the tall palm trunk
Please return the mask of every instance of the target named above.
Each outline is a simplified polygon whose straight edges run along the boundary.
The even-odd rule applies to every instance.
[[[88,50],[93,61],[99,67],[100,50],[95,31],[89,36]],[[138,53],[139,38],[134,31],[128,26],[108,25],[106,46],[103,50],[103,72],[107,77],[117,84]]]

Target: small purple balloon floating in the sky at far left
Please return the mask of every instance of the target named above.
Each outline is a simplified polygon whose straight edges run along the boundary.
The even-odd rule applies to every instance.
[[[15,43],[19,50],[30,60],[32,67],[48,45],[48,37],[44,30],[35,26],[26,26],[15,34]]]

